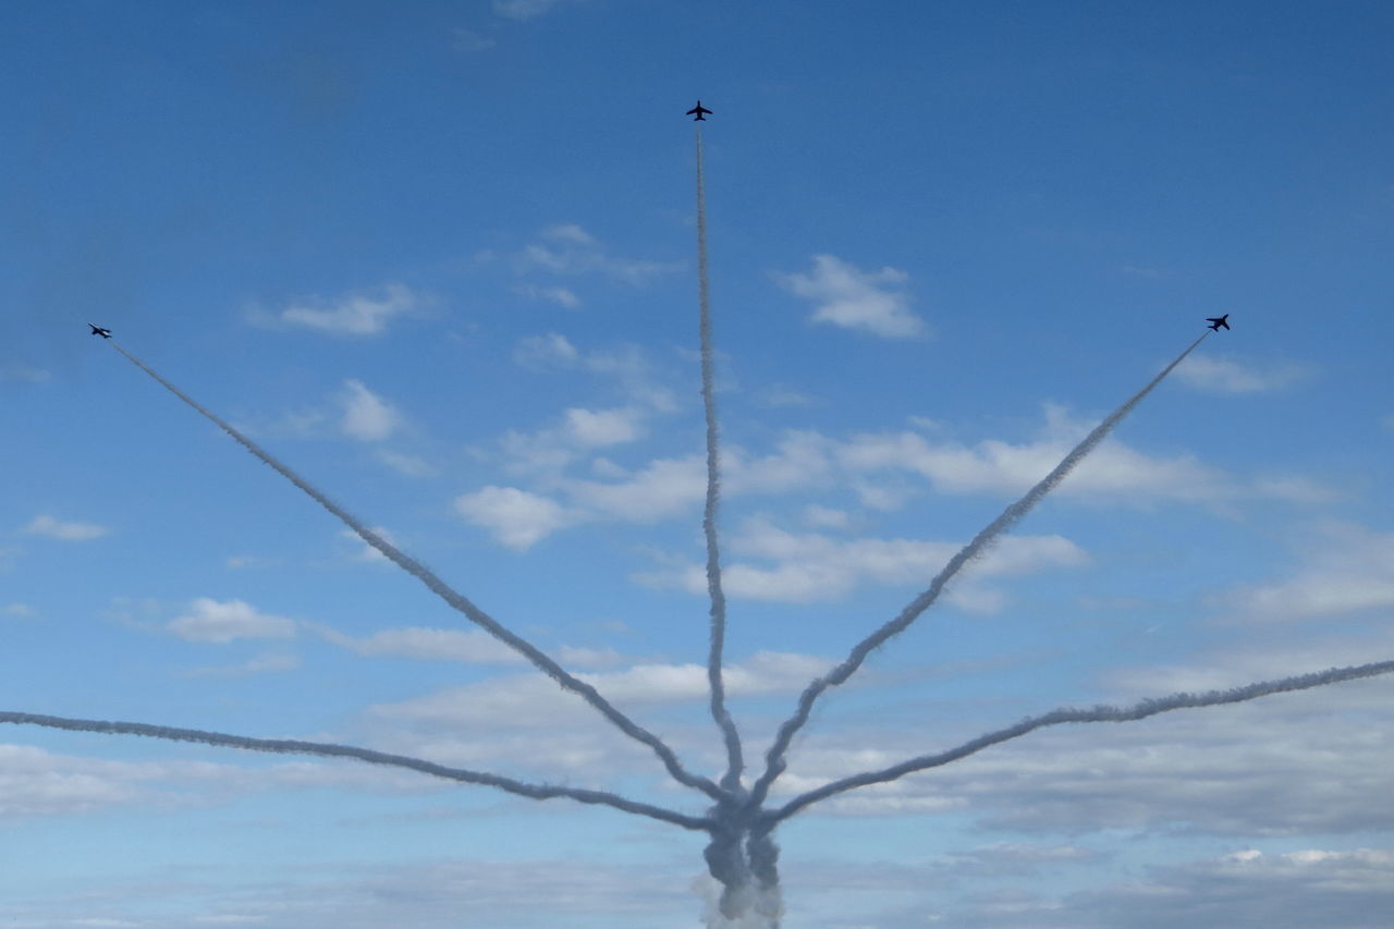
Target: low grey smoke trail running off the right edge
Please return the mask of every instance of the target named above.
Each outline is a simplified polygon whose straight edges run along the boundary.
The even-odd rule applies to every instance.
[[[1158,713],[1171,713],[1172,710],[1223,706],[1225,703],[1243,703],[1245,700],[1255,700],[1273,693],[1309,690],[1328,683],[1341,683],[1342,681],[1356,681],[1359,678],[1373,678],[1376,675],[1390,672],[1394,672],[1394,661],[1376,661],[1348,668],[1328,668],[1326,671],[1280,678],[1277,681],[1260,681],[1257,683],[1249,683],[1231,690],[1172,693],[1171,696],[1143,700],[1125,707],[1096,706],[1092,710],[1059,709],[1046,713],[1044,716],[1034,716],[1022,720],[1016,725],[1009,725],[1005,730],[980,735],[972,742],[965,742],[963,745],[949,749],[948,752],[941,752],[938,755],[921,755],[920,757],[912,757],[907,762],[902,762],[880,771],[853,774],[852,777],[845,777],[841,781],[824,784],[822,787],[814,788],[806,794],[800,794],[779,809],[765,813],[765,817],[771,823],[778,823],[789,819],[810,803],[827,799],[835,794],[842,794],[843,791],[856,790],[859,787],[867,787],[870,784],[885,784],[905,777],[906,774],[913,774],[914,771],[940,767],[948,764],[949,762],[967,757],[969,755],[976,755],[988,746],[1020,738],[1027,732],[1034,732],[1036,730],[1047,725],[1061,725],[1064,723],[1131,723],[1133,720],[1147,718],[1149,716],[1157,716]]]

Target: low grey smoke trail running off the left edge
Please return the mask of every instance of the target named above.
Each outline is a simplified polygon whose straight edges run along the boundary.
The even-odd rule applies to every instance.
[[[353,745],[333,745],[330,742],[301,742],[298,739],[254,739],[245,735],[229,735],[226,732],[205,732],[204,730],[180,730],[170,725],[149,725],[146,723],[107,723],[105,720],[72,720],[61,716],[38,716],[35,713],[0,713],[0,723],[17,725],[43,725],[52,730],[68,730],[74,732],[103,732],[107,735],[145,735],[156,739],[170,739],[173,742],[202,742],[219,748],[236,748],[250,752],[275,752],[277,755],[318,755],[322,757],[347,757],[369,764],[386,764],[389,767],[404,767],[432,777],[443,777],[464,784],[482,784],[496,787],[509,794],[527,796],[528,799],[552,799],[566,796],[580,803],[597,803],[613,806],[626,813],[648,816],[665,823],[682,826],[683,829],[705,830],[710,823],[696,816],[640,803],[626,799],[608,791],[588,791],[573,787],[555,787],[551,784],[528,784],[516,781],[512,777],[487,774],[484,771],[470,771],[460,767],[446,767],[406,755],[388,755],[372,749],[355,748]]]

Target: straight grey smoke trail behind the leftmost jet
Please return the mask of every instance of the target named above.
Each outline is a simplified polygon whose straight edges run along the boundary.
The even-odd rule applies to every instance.
[[[279,471],[282,474],[282,477],[284,477],[291,484],[294,484],[301,491],[304,491],[311,499],[314,499],[316,504],[319,504],[321,506],[323,506],[325,509],[328,509],[330,513],[333,513],[335,516],[337,516],[346,526],[348,526],[348,529],[354,530],[358,534],[360,538],[362,538],[365,543],[368,543],[369,545],[372,545],[374,548],[376,548],[378,551],[381,551],[383,555],[386,555],[389,559],[392,559],[399,568],[401,568],[403,571],[406,571],[408,575],[411,575],[413,577],[415,577],[417,580],[420,580],[421,583],[424,583],[431,590],[431,593],[434,593],[438,597],[441,597],[442,600],[445,600],[456,611],[464,614],[466,618],[470,619],[470,622],[473,622],[477,626],[482,628],[491,636],[493,636],[499,642],[505,643],[506,646],[509,646],[510,649],[513,649],[514,651],[517,651],[519,654],[521,654],[523,657],[526,657],[528,661],[531,661],[534,664],[534,667],[537,667],[539,671],[542,671],[544,674],[546,674],[548,677],[551,677],[562,688],[565,688],[565,689],[567,689],[567,690],[570,690],[573,693],[579,693],[581,697],[585,699],[587,703],[590,703],[592,707],[595,707],[601,713],[601,716],[604,716],[606,720],[609,720],[611,723],[613,723],[616,728],[619,728],[622,732],[625,732],[625,735],[627,735],[627,737],[630,737],[633,739],[637,739],[638,742],[643,742],[644,745],[647,745],[648,748],[651,748],[654,750],[654,753],[658,755],[658,757],[664,762],[664,766],[668,769],[668,773],[673,776],[673,780],[676,780],[680,784],[686,784],[687,787],[693,787],[696,790],[700,790],[700,791],[703,791],[704,794],[707,794],[708,796],[711,796],[712,799],[717,799],[717,801],[719,801],[719,799],[722,799],[725,796],[725,794],[722,792],[722,790],[719,787],[717,787],[711,780],[708,780],[705,777],[701,777],[701,776],[697,776],[697,774],[689,773],[682,766],[682,763],[677,760],[677,756],[673,755],[673,750],[671,748],[668,748],[668,745],[665,745],[662,739],[659,739],[657,735],[654,735],[648,730],[640,727],[633,720],[630,720],[627,716],[625,716],[623,713],[620,713],[609,700],[606,700],[605,697],[602,697],[601,693],[599,693],[599,690],[597,690],[594,686],[591,686],[590,683],[585,683],[584,681],[581,681],[581,679],[579,679],[579,678],[567,674],[566,670],[562,668],[562,665],[559,665],[556,661],[553,661],[551,657],[548,657],[537,646],[534,646],[533,643],[527,642],[526,639],[523,639],[523,637],[520,637],[520,636],[509,632],[493,617],[491,617],[489,614],[487,614],[482,610],[480,610],[478,607],[475,607],[468,598],[466,598],[464,596],[461,596],[460,593],[457,593],[453,587],[450,587],[443,580],[441,580],[439,577],[436,577],[436,575],[429,568],[427,568],[421,562],[415,561],[414,558],[410,558],[408,555],[403,554],[400,550],[397,550],[393,544],[390,544],[382,536],[379,536],[378,533],[375,533],[371,529],[368,529],[367,526],[364,526],[354,516],[351,516],[347,511],[344,511],[343,508],[340,508],[339,505],[336,505],[333,501],[330,501],[328,497],[325,497],[323,494],[321,494],[319,491],[316,491],[314,487],[311,487],[302,477],[300,477],[298,474],[296,474],[296,471],[290,470],[289,467],[286,467],[284,464],[282,464],[280,462],[277,462],[275,458],[272,458],[259,445],[256,445],[250,438],[247,438],[245,435],[243,435],[241,432],[238,432],[237,430],[234,430],[231,425],[229,425],[227,423],[224,423],[223,420],[220,420],[212,411],[209,411],[205,407],[202,407],[197,400],[194,400],[191,396],[188,396],[187,393],[184,393],[183,391],[180,391],[177,386],[174,386],[173,384],[170,384],[169,381],[166,381],[164,378],[162,378],[152,368],[149,368],[144,361],[141,361],[134,354],[131,354],[130,352],[127,352],[125,349],[123,349],[120,345],[117,345],[117,342],[114,339],[107,339],[107,342],[112,345],[112,347],[114,347],[117,352],[120,352],[121,354],[124,354],[127,357],[127,360],[131,361],[131,364],[134,364],[135,367],[138,367],[142,371],[145,371],[146,374],[149,374],[160,385],[163,385],[170,393],[173,393],[174,396],[177,396],[178,399],[184,400],[191,407],[194,407],[195,410],[198,410],[199,413],[202,413],[208,420],[210,420],[215,425],[217,425],[217,428],[223,430],[224,432],[227,432],[229,435],[231,435],[234,439],[237,439],[237,442],[243,448],[245,448],[248,452],[251,452],[252,455],[255,455],[256,458],[259,458],[262,462],[265,462],[266,464],[269,464],[270,467],[273,467],[276,471]]]

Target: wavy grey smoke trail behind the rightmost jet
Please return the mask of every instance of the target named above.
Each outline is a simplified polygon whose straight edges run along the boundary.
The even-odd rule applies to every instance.
[[[769,750],[765,753],[765,773],[760,776],[760,780],[756,781],[756,785],[750,791],[750,803],[753,808],[764,802],[769,792],[769,785],[774,784],[775,778],[783,773],[786,764],[785,753],[789,750],[789,742],[809,721],[809,714],[813,711],[813,704],[818,696],[828,688],[835,688],[850,678],[856,670],[861,667],[861,663],[866,661],[867,656],[885,643],[887,639],[899,635],[909,628],[909,625],[914,622],[920,614],[928,610],[930,605],[938,600],[944,586],[953,579],[953,575],[956,575],[963,565],[981,555],[998,536],[1011,529],[1011,526],[1022,516],[1029,513],[1032,508],[1046,497],[1046,494],[1055,490],[1055,485],[1065,480],[1075,466],[1079,464],[1086,455],[1094,451],[1094,446],[1103,442],[1114,427],[1118,425],[1125,416],[1132,413],[1133,407],[1138,406],[1144,396],[1151,393],[1153,388],[1161,384],[1163,378],[1171,374],[1172,368],[1181,364],[1188,354],[1195,352],[1196,346],[1204,342],[1207,335],[1210,335],[1210,332],[1204,332],[1199,339],[1192,342],[1185,352],[1178,354],[1171,364],[1161,370],[1161,374],[1149,381],[1147,386],[1128,398],[1122,406],[1110,413],[1103,423],[1096,425],[1094,431],[1086,435],[1079,445],[1071,449],[1069,455],[1066,455],[1050,474],[1043,477],[1036,487],[1026,491],[1020,499],[1004,509],[1001,516],[994,519],[986,529],[974,536],[967,545],[949,559],[949,564],[947,564],[934,577],[928,589],[912,600],[909,605],[901,611],[901,615],[859,642],[842,664],[824,677],[814,679],[814,682],[804,689],[804,692],[799,696],[797,711],[779,727],[774,745],[771,745]]]

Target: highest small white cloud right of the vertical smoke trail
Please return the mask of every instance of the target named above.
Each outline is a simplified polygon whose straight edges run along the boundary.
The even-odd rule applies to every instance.
[[[832,255],[814,255],[813,272],[776,273],[789,293],[815,304],[811,319],[845,329],[863,329],[885,339],[917,339],[928,335],[924,321],[910,311],[902,286],[903,271],[859,271]]]

